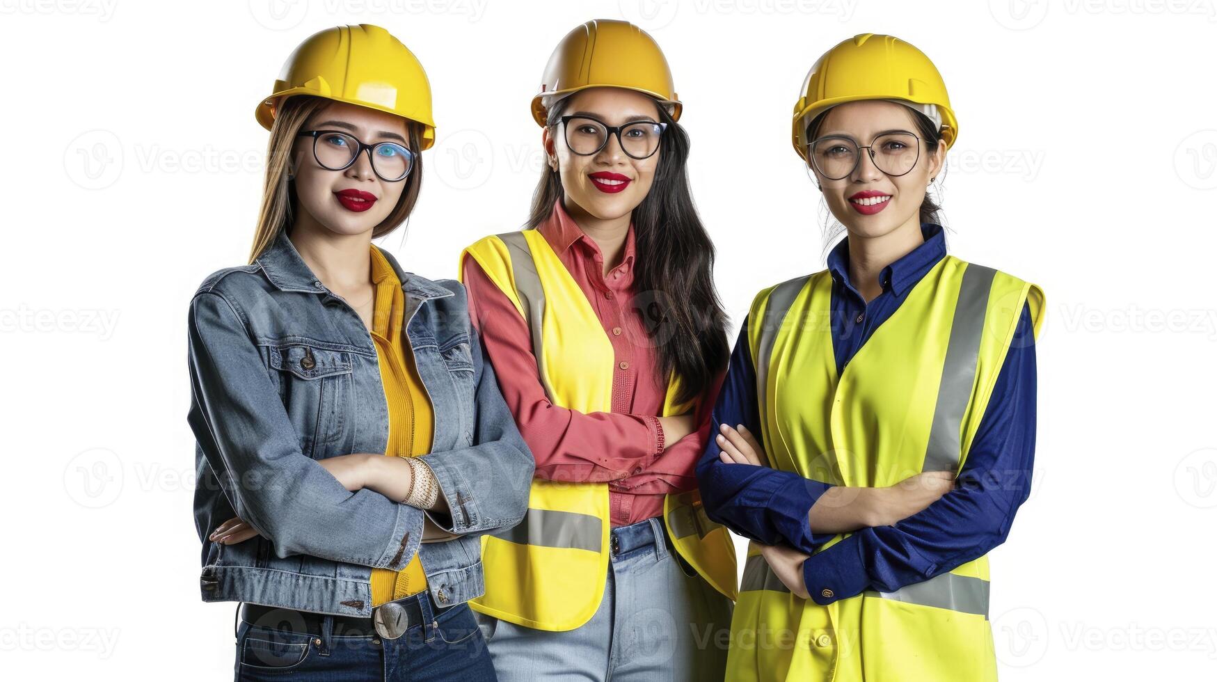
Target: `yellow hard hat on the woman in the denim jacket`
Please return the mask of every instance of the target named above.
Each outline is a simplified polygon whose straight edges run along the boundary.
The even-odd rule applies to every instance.
[[[396,113],[424,125],[422,149],[436,140],[427,74],[414,52],[378,26],[337,26],[308,37],[287,57],[271,95],[258,102],[258,123],[269,130],[275,106],[292,95]]]

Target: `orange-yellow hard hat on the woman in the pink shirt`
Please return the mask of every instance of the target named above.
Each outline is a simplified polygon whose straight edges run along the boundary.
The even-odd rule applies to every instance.
[[[673,121],[680,118],[668,60],[654,38],[629,22],[593,19],[562,38],[533,97],[533,119],[544,127],[546,104],[587,88],[636,90],[668,105]]]

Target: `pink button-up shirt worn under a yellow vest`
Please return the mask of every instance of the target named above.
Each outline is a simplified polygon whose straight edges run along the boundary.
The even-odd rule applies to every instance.
[[[532,336],[515,304],[473,258],[465,258],[469,309],[494,364],[520,432],[537,458],[539,479],[607,482],[610,521],[634,524],[663,513],[663,496],[692,490],[694,465],[706,448],[713,393],[697,413],[699,427],[677,442],[658,442],[667,382],[634,307],[634,225],[621,264],[604,272],[604,255],[559,200],[537,230],[553,246],[588,297],[613,347],[612,410],[581,413],[549,402],[537,376]],[[722,376],[714,381],[717,391]]]

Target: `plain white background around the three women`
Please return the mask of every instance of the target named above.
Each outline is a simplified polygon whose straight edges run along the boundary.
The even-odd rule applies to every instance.
[[[382,246],[450,278],[523,220],[529,99],[596,17],[667,52],[733,326],[824,263],[789,139],[812,62],[863,32],[935,61],[960,122],[948,247],[1048,301],[1034,488],[992,553],[1002,678],[1215,678],[1213,0],[0,0],[4,677],[231,676],[234,604],[198,592],[186,308],[246,262],[253,110],[291,50],[368,22],[422,61],[438,144]]]

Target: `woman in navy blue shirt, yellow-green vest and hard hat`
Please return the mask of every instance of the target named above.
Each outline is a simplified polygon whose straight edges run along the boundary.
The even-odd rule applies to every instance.
[[[912,45],[826,52],[792,135],[848,234],[755,298],[697,466],[752,541],[727,677],[996,680],[986,553],[1030,490],[1043,292],[947,253],[926,190],[958,123]]]

